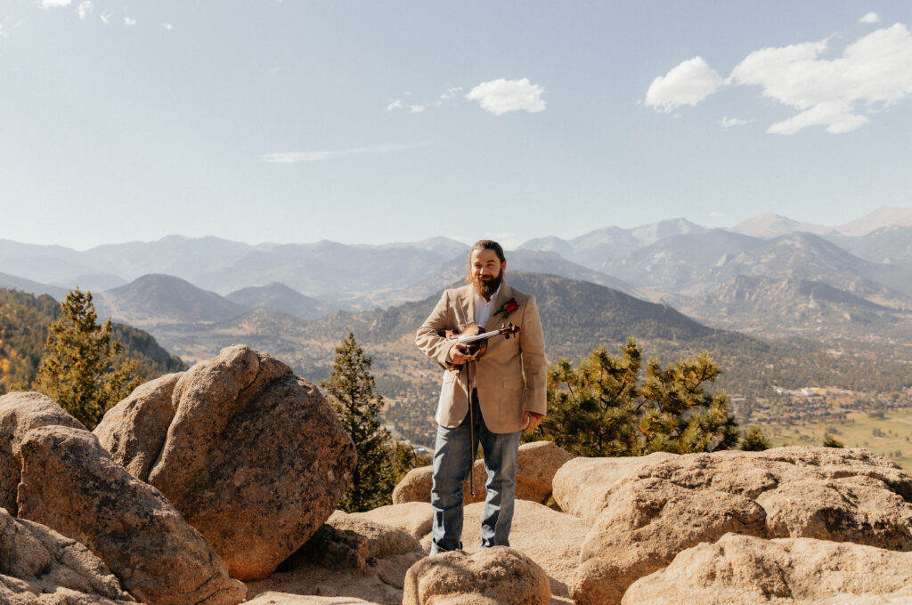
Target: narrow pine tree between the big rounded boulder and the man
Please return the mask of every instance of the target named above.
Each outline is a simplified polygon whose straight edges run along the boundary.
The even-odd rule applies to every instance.
[[[397,456],[399,444],[380,426],[383,397],[370,374],[370,357],[355,342],[354,334],[348,333],[336,348],[333,373],[320,386],[326,389],[329,403],[358,452],[358,466],[339,508],[357,512],[391,504],[393,487],[401,472],[397,469],[402,464],[398,462],[401,456]]]

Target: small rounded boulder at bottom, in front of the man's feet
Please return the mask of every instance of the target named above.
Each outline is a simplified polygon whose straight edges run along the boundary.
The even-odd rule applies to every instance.
[[[547,605],[548,576],[532,559],[507,547],[461,550],[421,559],[405,579],[402,605]]]

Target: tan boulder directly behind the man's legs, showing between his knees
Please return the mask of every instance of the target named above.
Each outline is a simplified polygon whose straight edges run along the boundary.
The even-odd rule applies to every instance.
[[[552,441],[534,441],[520,446],[516,456],[516,497],[544,504],[551,496],[554,473],[572,457]],[[430,502],[433,472],[433,467],[410,470],[393,490],[393,504]],[[468,479],[462,490],[466,504],[484,501],[487,474],[483,460],[475,461],[473,472],[475,495],[472,496]]]

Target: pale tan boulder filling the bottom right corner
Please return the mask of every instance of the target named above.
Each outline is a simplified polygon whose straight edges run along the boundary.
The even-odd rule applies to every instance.
[[[684,550],[627,590],[625,604],[912,602],[912,553],[814,538],[728,534]]]

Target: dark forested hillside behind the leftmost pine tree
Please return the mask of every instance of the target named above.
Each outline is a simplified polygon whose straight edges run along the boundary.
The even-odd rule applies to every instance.
[[[59,313],[59,302],[47,294],[36,297],[0,288],[0,394],[31,385],[44,354],[47,328]],[[115,323],[114,337],[123,344],[123,354],[137,361],[137,374],[143,378],[187,367],[142,330]]]

